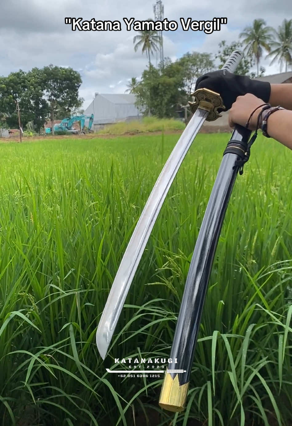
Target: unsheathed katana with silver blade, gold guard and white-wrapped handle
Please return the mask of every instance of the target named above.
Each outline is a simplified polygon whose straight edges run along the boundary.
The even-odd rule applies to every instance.
[[[223,69],[230,72],[235,71],[241,58],[242,53],[238,50],[234,51],[224,64]],[[194,95],[195,102],[190,103],[194,115],[179,138],[179,141],[174,147],[168,161],[165,163],[150,193],[121,260],[104,311],[101,315],[96,332],[96,345],[103,359],[107,354],[107,349],[113,337],[116,324],[119,320],[121,310],[150,233],[155,225],[159,211],[161,210],[176,173],[205,120],[215,120],[220,116],[217,109],[220,107],[224,109],[220,95],[215,92],[199,89]]]

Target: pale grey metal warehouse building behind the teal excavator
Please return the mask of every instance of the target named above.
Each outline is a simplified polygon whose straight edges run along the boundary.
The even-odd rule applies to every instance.
[[[139,120],[141,113],[135,106],[136,96],[133,94],[102,94],[95,93],[95,98],[85,109],[85,115],[94,115],[94,130],[118,121]]]

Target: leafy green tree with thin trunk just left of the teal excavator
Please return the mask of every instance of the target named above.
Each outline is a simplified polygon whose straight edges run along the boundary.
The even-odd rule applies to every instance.
[[[44,83],[45,98],[49,104],[52,134],[54,134],[54,118],[58,109],[72,109],[81,106],[78,89],[82,83],[79,72],[61,66],[43,67],[41,70]]]

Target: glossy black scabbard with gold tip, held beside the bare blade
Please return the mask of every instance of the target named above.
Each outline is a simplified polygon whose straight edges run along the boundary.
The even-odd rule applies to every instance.
[[[238,126],[232,133],[218,171],[194,248],[176,324],[159,406],[180,412],[185,407],[194,350],[218,239],[228,201],[251,132]],[[174,370],[172,372],[172,370]],[[179,371],[179,372],[178,372]]]

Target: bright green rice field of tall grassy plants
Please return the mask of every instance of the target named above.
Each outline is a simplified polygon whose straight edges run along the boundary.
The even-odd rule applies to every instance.
[[[185,412],[159,408],[163,377],[106,368],[169,357],[227,134],[194,141],[98,354],[107,294],[177,139],[0,144],[0,426],[291,426],[292,152],[270,139],[231,195]]]

